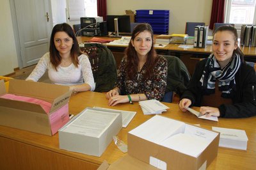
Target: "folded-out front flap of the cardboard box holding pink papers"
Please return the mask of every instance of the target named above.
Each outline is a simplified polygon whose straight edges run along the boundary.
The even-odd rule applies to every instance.
[[[0,98],[0,106],[9,107],[13,109],[20,109],[22,111],[31,111],[46,114],[44,109],[40,105],[31,104],[29,102]]]

